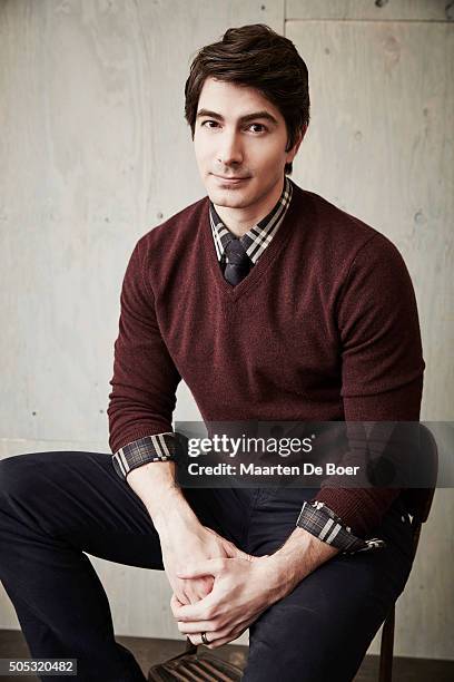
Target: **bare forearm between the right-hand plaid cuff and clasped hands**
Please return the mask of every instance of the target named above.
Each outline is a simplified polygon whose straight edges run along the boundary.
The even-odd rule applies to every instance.
[[[338,553],[339,549],[318,539],[308,530],[295,528],[286,543],[269,557],[282,590],[279,598]]]

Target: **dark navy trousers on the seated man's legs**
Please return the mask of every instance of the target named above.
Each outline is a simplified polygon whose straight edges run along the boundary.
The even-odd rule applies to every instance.
[[[184,489],[204,525],[256,556],[284,544],[315,491]],[[387,546],[336,555],[249,627],[244,682],[353,680],[412,567],[411,517],[399,498],[373,536]],[[164,569],[151,518],[110,455],[33,452],[0,461],[0,579],[31,656],[77,659],[78,680],[144,682],[134,655],[115,641],[106,592],[85,552]]]

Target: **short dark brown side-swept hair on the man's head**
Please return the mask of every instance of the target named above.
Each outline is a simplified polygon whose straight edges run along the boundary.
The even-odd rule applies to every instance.
[[[287,127],[286,152],[309,123],[307,67],[288,38],[265,23],[230,28],[219,42],[201,48],[190,65],[185,85],[185,118],[193,139],[197,106],[206,78],[256,88],[275,105]],[[292,173],[292,164],[285,173]]]

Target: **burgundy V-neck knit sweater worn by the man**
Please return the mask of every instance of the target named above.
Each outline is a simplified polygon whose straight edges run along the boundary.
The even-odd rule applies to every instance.
[[[204,197],[144,235],[126,271],[108,408],[116,452],[171,431],[182,378],[206,421],[415,420],[424,360],[412,282],[384,235],[295,185],[236,286]],[[322,487],[365,535],[399,490]]]

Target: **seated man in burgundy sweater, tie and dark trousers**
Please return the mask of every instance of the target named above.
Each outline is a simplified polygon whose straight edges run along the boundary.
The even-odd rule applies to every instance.
[[[194,643],[216,649],[249,627],[245,681],[344,682],[411,569],[398,490],[181,489],[175,392],[182,377],[207,422],[417,420],[413,288],[386,237],[289,179],[309,121],[289,40],[229,29],[197,55],[185,94],[208,196],[129,260],[112,461],[0,464],[0,577],[31,654],[77,657],[82,680],[144,679],[85,551],[164,567]]]

